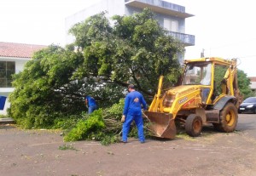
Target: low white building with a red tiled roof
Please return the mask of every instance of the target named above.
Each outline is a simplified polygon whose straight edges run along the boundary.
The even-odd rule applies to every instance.
[[[9,108],[9,93],[14,91],[11,75],[23,71],[24,65],[31,60],[32,54],[42,48],[46,46],[0,42],[0,96],[7,97],[4,110],[0,111],[0,114],[6,114]]]

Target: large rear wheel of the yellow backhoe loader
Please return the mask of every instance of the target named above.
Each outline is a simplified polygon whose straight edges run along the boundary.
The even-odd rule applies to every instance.
[[[215,124],[216,128],[220,132],[230,133],[233,132],[236,128],[238,111],[236,105],[233,103],[228,103],[224,106],[224,109],[220,112],[219,124]]]

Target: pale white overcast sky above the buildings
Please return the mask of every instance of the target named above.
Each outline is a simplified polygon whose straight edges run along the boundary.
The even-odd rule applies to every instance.
[[[0,42],[65,44],[65,18],[100,0],[1,0]],[[186,33],[195,35],[185,59],[239,58],[238,68],[256,77],[256,10],[251,0],[166,0],[186,7]]]

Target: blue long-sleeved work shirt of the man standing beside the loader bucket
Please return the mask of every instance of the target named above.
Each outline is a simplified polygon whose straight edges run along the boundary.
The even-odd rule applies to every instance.
[[[145,99],[143,98],[143,94],[140,94],[137,91],[132,91],[131,93],[127,94],[125,97],[125,107],[123,114],[127,116],[129,115],[141,115],[142,114],[142,107],[143,109],[147,110],[147,104]]]

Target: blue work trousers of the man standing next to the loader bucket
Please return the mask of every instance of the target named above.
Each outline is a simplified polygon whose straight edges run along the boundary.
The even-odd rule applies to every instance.
[[[130,132],[131,122],[134,120],[137,126],[138,139],[140,142],[144,142],[144,131],[143,131],[143,116],[142,115],[127,115],[125,116],[125,122],[123,123],[122,139],[127,142],[127,135]]]

